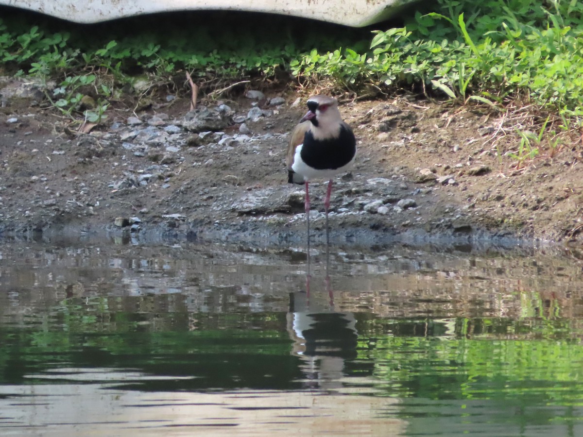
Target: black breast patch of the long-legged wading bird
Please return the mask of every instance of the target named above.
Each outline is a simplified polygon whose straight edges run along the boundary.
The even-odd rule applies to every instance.
[[[356,139],[352,129],[342,125],[338,138],[316,140],[310,131],[304,135],[301,160],[316,170],[335,170],[352,161]]]

